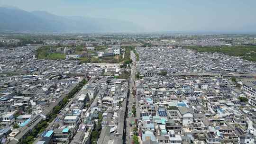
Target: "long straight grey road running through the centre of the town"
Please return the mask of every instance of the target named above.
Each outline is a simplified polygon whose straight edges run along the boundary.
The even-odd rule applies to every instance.
[[[129,126],[129,124],[132,124],[133,122],[135,122],[135,119],[137,119],[139,117],[139,108],[136,102],[136,117],[133,117],[132,115],[132,106],[133,103],[135,102],[135,98],[132,94],[133,89],[134,89],[134,81],[135,81],[135,74],[136,74],[136,55],[133,53],[133,51],[131,51],[131,59],[133,60],[133,64],[131,67],[131,76],[130,76],[130,80],[129,80],[129,98],[128,98],[128,106],[127,106],[127,110],[128,110],[128,115],[126,118],[126,144],[132,144],[132,136],[130,136],[130,132],[133,132],[133,128],[135,126]]]

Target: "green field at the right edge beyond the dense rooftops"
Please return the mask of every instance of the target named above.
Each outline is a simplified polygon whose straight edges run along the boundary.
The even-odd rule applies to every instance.
[[[183,46],[183,48],[195,50],[197,52],[221,53],[231,56],[239,56],[245,60],[256,62],[255,45],[238,46]]]

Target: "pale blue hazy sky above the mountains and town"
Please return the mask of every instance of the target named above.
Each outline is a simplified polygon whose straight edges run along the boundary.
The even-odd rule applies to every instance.
[[[256,0],[0,0],[0,5],[126,20],[147,31],[256,31]]]

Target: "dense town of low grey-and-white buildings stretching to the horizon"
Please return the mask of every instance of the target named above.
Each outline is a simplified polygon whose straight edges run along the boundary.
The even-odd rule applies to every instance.
[[[1,144],[256,143],[255,35],[4,33],[0,55]]]

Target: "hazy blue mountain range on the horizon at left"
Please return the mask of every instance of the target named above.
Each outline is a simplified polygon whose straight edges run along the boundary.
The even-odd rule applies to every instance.
[[[46,11],[28,12],[0,7],[0,31],[13,32],[138,32],[141,27],[132,22],[106,18],[63,17]]]

